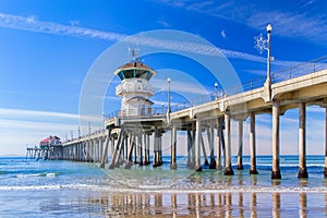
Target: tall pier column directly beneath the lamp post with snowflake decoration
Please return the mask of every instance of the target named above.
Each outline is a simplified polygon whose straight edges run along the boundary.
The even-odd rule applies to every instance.
[[[271,179],[281,179],[279,169],[279,102],[272,102],[272,171]]]

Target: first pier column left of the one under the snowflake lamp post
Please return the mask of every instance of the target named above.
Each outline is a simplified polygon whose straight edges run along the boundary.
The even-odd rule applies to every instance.
[[[250,113],[250,174],[258,174],[256,170],[255,114]]]

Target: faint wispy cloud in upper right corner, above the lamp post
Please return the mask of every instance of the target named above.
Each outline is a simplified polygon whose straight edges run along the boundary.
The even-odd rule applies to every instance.
[[[324,4],[310,2],[289,2],[289,5],[276,8],[266,2],[249,1],[167,1],[165,3],[175,8],[222,17],[233,22],[245,24],[255,29],[264,29],[268,23],[274,26],[274,34],[288,38],[303,38],[308,41],[327,44],[327,23],[322,11]],[[322,13],[323,12],[323,13]]]

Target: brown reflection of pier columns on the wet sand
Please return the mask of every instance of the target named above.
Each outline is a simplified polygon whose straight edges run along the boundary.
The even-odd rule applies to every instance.
[[[279,192],[218,193],[109,193],[89,199],[89,213],[100,217],[282,217]],[[307,193],[286,193],[299,201],[288,213],[307,217]],[[326,196],[327,197],[327,196]],[[326,198],[327,199],[327,198]],[[326,201],[325,199],[325,201]],[[92,206],[90,206],[92,205]],[[325,208],[322,208],[326,213]]]

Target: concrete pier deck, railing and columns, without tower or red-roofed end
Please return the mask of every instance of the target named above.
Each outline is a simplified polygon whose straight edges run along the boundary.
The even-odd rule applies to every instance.
[[[251,174],[259,173],[256,168],[256,119],[257,114],[271,114],[271,179],[281,179],[280,172],[280,122],[287,110],[299,108],[299,178],[307,178],[305,155],[305,109],[307,106],[327,107],[327,57],[295,65],[271,74],[271,82],[243,84],[242,87],[225,90],[223,95],[189,108],[157,112],[144,110],[142,114],[109,117],[105,130],[81,138],[63,143],[62,159],[99,162],[100,167],[113,169],[131,168],[132,165],[162,165],[162,135],[169,133],[171,150],[170,166],[178,169],[177,147],[184,146],[187,167],[201,171],[203,165],[210,169],[223,170],[232,175],[231,147],[238,146],[238,170],[243,170],[243,123],[250,119]],[[136,64],[135,64],[136,65]],[[119,71],[118,71],[119,72]],[[120,87],[122,88],[122,87]],[[121,89],[117,92],[122,92]],[[150,90],[147,90],[150,92]],[[239,122],[239,138],[231,144],[231,120]],[[327,135],[327,112],[326,112]],[[186,144],[178,144],[177,135],[184,132]],[[206,154],[204,136],[210,148]],[[109,152],[110,150],[110,152]],[[325,146],[325,177],[327,177],[327,140]],[[110,153],[110,158],[108,157]],[[223,156],[223,158],[222,158]],[[204,157],[205,161],[201,159]],[[223,160],[223,162],[222,162]]]

